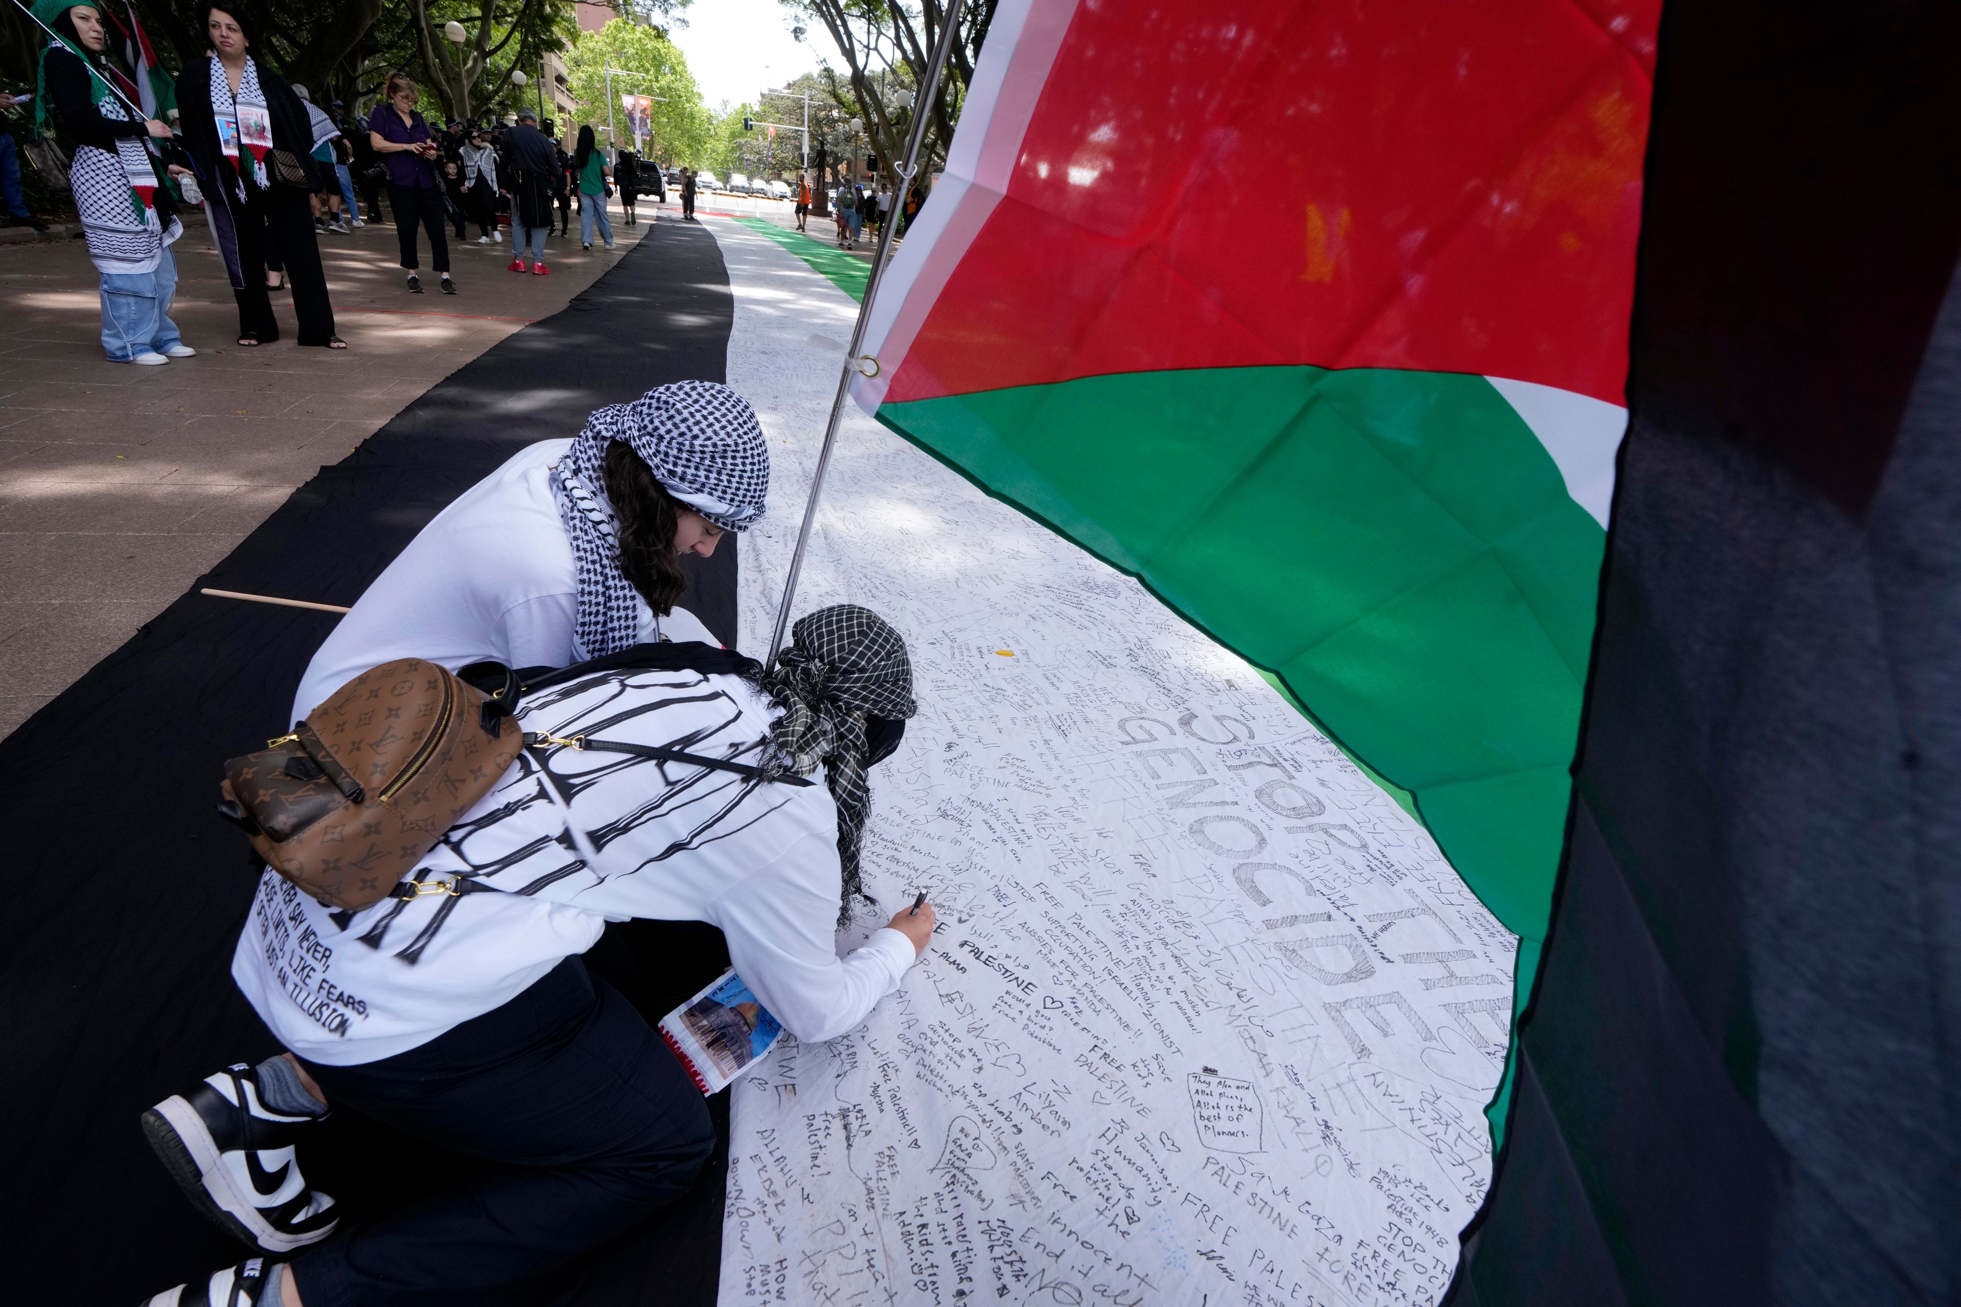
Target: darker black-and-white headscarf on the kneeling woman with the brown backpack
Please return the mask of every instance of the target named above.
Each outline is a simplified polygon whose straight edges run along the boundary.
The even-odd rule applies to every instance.
[[[859,872],[871,790],[865,768],[871,756],[871,719],[904,721],[918,711],[912,700],[912,658],[906,641],[879,613],[855,604],[822,607],[790,627],[790,647],[763,674],[782,715],[771,739],[782,766],[808,776],[826,764],[824,782],[837,801],[837,860],[843,864],[839,929],[851,919],[851,901],[867,897]]]

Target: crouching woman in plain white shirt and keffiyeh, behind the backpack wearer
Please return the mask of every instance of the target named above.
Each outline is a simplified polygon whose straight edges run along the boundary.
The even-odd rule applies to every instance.
[[[675,382],[594,410],[477,482],[408,543],[314,654],[294,717],[390,658],[567,666],[708,641],[675,607],[680,555],[761,521],[769,447],[749,402]]]

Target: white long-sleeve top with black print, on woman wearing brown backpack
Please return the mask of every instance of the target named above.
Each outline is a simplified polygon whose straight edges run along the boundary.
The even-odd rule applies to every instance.
[[[773,711],[737,676],[610,672],[537,692],[518,725],[755,762]],[[837,956],[837,809],[822,784],[573,749],[547,764],[569,799],[526,750],[410,876],[490,892],[341,913],[265,872],[231,976],[286,1048],[327,1066],[416,1048],[590,948],[608,919],[720,927],[802,1041],[849,1031],[912,966],[912,941],[888,927]]]

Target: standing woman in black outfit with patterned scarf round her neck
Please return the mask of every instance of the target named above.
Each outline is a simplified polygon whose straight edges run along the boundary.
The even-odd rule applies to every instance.
[[[245,24],[216,4],[200,6],[208,59],[176,78],[178,121],[208,200],[212,237],[239,304],[239,345],[278,339],[265,290],[267,247],[284,265],[300,345],[347,349],[333,335],[327,274],[314,237],[312,196],[324,176],[314,159],[314,121],[282,76],[255,59]]]

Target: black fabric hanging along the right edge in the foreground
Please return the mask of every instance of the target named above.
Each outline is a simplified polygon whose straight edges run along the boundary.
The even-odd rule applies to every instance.
[[[1961,1301],[1955,67],[1953,4],[1663,14],[1567,852],[1455,1307]]]

